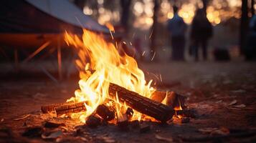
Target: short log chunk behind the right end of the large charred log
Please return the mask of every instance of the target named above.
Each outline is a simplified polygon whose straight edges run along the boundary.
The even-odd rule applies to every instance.
[[[153,92],[151,99],[155,100],[156,102],[162,102],[163,99],[166,97],[166,92]],[[185,106],[185,99],[186,97],[177,94],[176,92],[168,92],[167,93],[167,101],[166,105],[175,107],[181,107],[182,109],[186,109]]]

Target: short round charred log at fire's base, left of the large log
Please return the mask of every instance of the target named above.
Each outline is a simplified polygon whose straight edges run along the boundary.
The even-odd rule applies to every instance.
[[[96,113],[106,121],[110,121],[115,118],[115,111],[104,104],[98,106]]]

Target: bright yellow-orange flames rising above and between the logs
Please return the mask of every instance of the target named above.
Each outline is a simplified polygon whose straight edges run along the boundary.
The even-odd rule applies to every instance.
[[[155,91],[151,87],[152,81],[146,82],[144,73],[138,68],[135,59],[125,53],[120,54],[118,52],[120,50],[114,44],[105,41],[102,35],[86,29],[83,32],[82,40],[77,35],[65,34],[67,44],[74,46],[77,50],[79,59],[75,62],[80,69],[80,89],[75,91],[75,97],[67,101],[87,101],[85,104],[87,111],[78,115],[81,122],[85,122],[98,105],[110,98],[108,95],[110,82],[137,92],[144,97],[151,97]],[[77,117],[77,114],[73,114],[73,116]],[[134,111],[132,119],[139,120],[143,117]]]

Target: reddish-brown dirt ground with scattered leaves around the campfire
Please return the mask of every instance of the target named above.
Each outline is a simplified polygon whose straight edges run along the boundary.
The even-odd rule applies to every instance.
[[[146,122],[150,129],[143,133],[136,127],[120,131],[115,124],[91,129],[75,119],[42,114],[42,105],[73,96],[77,74],[56,84],[43,73],[1,71],[0,142],[256,142],[255,65],[243,61],[140,63],[146,79],[157,81],[159,90],[184,95],[187,106],[196,111],[182,124]],[[0,65],[1,70],[5,68]],[[28,128],[40,130],[47,120],[66,124],[60,136],[22,136]]]

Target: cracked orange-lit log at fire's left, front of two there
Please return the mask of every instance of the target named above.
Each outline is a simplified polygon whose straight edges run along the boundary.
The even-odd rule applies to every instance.
[[[86,111],[85,102],[65,104],[59,107],[55,107],[55,111],[56,111],[57,117],[59,117],[62,114],[85,112]]]

